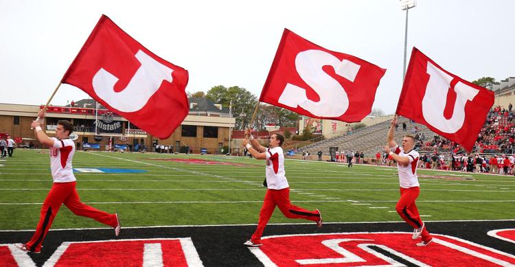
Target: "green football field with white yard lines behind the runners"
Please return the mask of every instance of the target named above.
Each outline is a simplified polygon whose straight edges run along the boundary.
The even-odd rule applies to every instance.
[[[17,149],[0,164],[0,229],[34,229],[52,186],[47,150]],[[293,204],[320,209],[324,222],[401,220],[395,212],[396,168],[299,160],[285,164]],[[76,152],[73,167],[93,169],[76,173],[81,200],[118,212],[122,227],[255,224],[266,191],[264,161],[248,157]],[[113,170],[93,172],[102,168]],[[123,172],[126,169],[133,172]],[[514,176],[428,170],[418,174],[422,220],[515,218]],[[270,223],[306,221],[284,218],[276,209]],[[96,227],[105,226],[74,216],[64,206],[52,226]]]

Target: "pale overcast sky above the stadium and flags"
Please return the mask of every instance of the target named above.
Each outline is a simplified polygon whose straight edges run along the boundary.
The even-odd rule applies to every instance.
[[[415,46],[469,81],[515,76],[514,10],[513,0],[418,0],[409,10],[408,57]],[[374,107],[396,110],[405,23],[398,0],[0,0],[0,102],[45,104],[102,14],[187,69],[192,93],[241,86],[259,97],[286,27],[387,69]],[[89,96],[63,84],[52,104],[82,98]]]

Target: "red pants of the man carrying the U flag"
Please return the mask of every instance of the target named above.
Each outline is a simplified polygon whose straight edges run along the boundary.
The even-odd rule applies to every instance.
[[[421,227],[423,224],[422,220],[420,220],[417,205],[415,205],[415,200],[417,200],[419,194],[420,187],[400,187],[400,199],[396,205],[397,213],[413,228]],[[422,231],[422,240],[431,240],[431,235],[427,231],[427,227],[424,227]]]

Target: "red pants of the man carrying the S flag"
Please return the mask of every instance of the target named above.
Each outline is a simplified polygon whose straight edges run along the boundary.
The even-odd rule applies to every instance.
[[[301,207],[297,207],[291,204],[289,187],[279,190],[267,189],[266,194],[264,195],[263,206],[261,207],[260,211],[258,229],[255,229],[255,232],[252,235],[251,240],[261,240],[264,227],[266,227],[266,223],[272,217],[272,213],[275,209],[275,206],[279,207],[279,209],[284,214],[284,216],[286,216],[286,218],[301,218],[306,220],[312,220],[314,222],[320,220],[320,214],[318,211],[308,211],[306,209],[302,209]]]

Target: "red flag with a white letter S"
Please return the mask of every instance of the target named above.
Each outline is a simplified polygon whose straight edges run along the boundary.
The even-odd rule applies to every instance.
[[[361,121],[385,71],[284,29],[260,101],[309,117]]]

